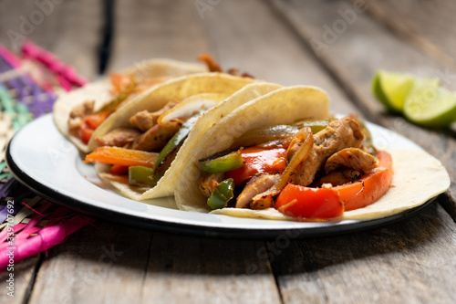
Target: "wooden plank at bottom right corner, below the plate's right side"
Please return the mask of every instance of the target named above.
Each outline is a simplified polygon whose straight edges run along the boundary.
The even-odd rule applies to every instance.
[[[349,236],[292,240],[272,263],[285,303],[454,303],[454,222],[439,204]]]

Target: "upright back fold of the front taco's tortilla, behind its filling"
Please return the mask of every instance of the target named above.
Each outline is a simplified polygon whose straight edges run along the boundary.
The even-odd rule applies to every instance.
[[[174,194],[176,204],[181,210],[203,213],[210,211],[206,198],[198,188],[202,176],[198,161],[228,149],[245,131],[290,124],[302,118],[326,117],[329,117],[329,98],[326,92],[314,87],[276,89],[245,103],[215,123],[194,145],[185,166],[179,170],[181,179]]]

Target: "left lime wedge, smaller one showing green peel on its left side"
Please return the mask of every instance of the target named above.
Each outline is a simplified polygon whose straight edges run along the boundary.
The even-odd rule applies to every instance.
[[[399,74],[387,71],[378,71],[372,79],[372,91],[388,110],[401,112],[404,101],[413,88],[416,77],[409,74]]]

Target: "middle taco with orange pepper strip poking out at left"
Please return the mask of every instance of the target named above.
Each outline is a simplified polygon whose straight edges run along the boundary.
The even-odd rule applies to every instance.
[[[173,79],[144,92],[93,134],[102,180],[135,200],[172,195],[181,167],[205,131],[230,111],[281,86],[223,73]],[[108,166],[106,166],[108,164]]]

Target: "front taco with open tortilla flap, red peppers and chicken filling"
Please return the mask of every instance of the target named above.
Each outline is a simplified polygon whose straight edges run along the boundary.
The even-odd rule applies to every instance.
[[[217,121],[175,192],[181,210],[275,220],[371,219],[450,185],[421,150],[379,151],[356,117],[332,118],[326,93],[277,89]]]

